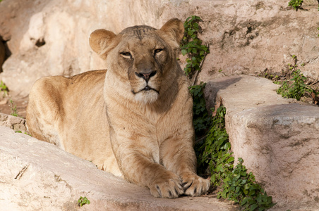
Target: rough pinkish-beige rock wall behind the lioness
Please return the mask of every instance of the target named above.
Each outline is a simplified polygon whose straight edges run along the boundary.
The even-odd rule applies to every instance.
[[[291,56],[306,76],[319,77],[318,1],[291,10],[287,0],[11,0],[0,3],[0,36],[12,55],[4,80],[12,94],[27,96],[44,75],[75,75],[104,68],[88,44],[93,30],[116,33],[132,25],[161,27],[170,18],[198,15],[210,54],[198,81],[224,75],[280,72]],[[222,71],[219,71],[222,70]]]

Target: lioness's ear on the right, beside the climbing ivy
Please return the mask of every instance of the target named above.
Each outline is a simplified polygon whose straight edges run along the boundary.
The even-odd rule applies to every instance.
[[[161,31],[169,34],[170,37],[174,38],[175,41],[179,44],[179,42],[183,38],[184,26],[183,26],[183,23],[181,22],[181,20],[179,20],[177,18],[173,18],[173,19],[167,21],[167,23],[165,23],[162,26]]]

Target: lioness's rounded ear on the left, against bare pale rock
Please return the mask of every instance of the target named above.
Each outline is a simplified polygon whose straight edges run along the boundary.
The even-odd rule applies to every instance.
[[[116,46],[116,34],[107,30],[95,30],[90,34],[90,46],[102,59],[107,58],[107,53]]]

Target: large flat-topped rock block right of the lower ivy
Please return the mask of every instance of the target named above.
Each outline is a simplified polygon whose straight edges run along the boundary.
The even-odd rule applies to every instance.
[[[227,108],[235,163],[243,158],[243,165],[277,203],[274,210],[319,210],[319,107],[282,98],[277,88],[252,76],[213,79],[205,87],[212,102],[207,107],[222,101]]]

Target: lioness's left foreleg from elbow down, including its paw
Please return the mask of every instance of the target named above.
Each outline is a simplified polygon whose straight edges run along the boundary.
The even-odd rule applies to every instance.
[[[114,135],[114,132],[111,134]],[[152,151],[157,147],[150,139],[145,141],[140,137],[130,140],[119,136],[118,132],[118,136],[112,136],[111,140],[116,160],[127,181],[148,186],[155,197],[177,198],[183,194],[181,178],[158,163]]]

